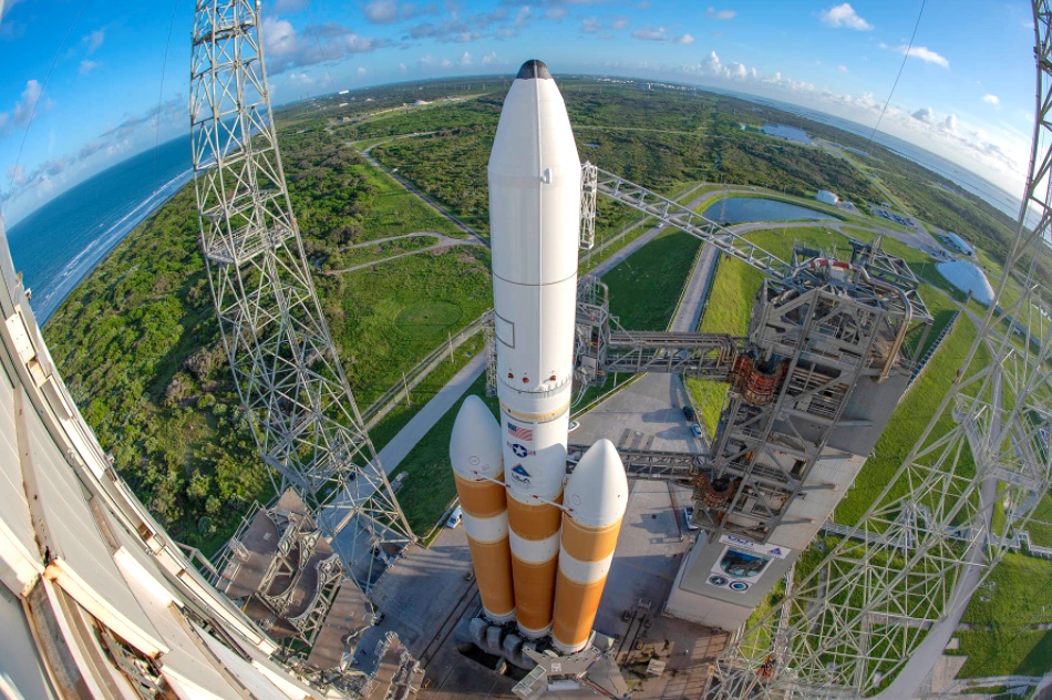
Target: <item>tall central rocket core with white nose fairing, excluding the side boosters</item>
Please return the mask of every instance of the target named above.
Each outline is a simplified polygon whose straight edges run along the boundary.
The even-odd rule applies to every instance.
[[[497,397],[519,630],[551,626],[574,377],[580,159],[539,61],[504,101],[489,156]]]

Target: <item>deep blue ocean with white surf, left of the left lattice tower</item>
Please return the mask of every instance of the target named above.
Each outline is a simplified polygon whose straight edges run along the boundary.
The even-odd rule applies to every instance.
[[[190,138],[132,156],[59,195],[8,231],[14,269],[43,325],[127,234],[193,176]]]

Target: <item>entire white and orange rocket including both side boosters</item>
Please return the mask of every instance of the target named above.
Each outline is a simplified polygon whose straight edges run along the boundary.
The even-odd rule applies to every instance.
[[[581,167],[540,61],[523,64],[504,100],[488,174],[501,423],[482,401],[465,401],[450,453],[486,617],[514,614],[519,634],[537,639],[553,631],[555,609],[555,644],[569,653],[591,631],[628,485],[613,445],[600,441],[569,482],[574,503],[564,503]],[[493,488],[501,473],[504,498]]]

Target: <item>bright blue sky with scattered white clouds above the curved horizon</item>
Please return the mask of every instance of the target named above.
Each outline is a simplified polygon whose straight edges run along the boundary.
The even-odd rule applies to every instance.
[[[0,0],[0,212],[188,131],[192,0]],[[668,80],[873,125],[1021,191],[1032,130],[1029,3],[662,0],[264,3],[272,99],[512,72]],[[171,40],[169,40],[171,34]]]

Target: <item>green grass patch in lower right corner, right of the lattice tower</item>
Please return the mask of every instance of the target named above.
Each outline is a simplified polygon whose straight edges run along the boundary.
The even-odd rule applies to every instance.
[[[1052,564],[1007,554],[965,610],[959,655],[962,678],[1042,676],[1052,659]]]

